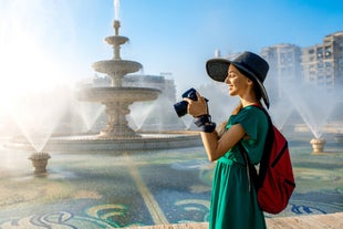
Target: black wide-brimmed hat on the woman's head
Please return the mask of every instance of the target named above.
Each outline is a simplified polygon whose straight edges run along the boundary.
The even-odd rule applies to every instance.
[[[269,97],[263,81],[267,76],[269,64],[261,56],[252,52],[243,52],[233,61],[227,59],[210,59],[206,63],[207,74],[215,81],[225,82],[228,76],[228,69],[233,64],[247,77],[252,80],[261,91],[263,102],[269,108]]]

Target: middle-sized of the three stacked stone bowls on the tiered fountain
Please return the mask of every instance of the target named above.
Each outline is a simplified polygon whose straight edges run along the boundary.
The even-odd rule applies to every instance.
[[[93,63],[92,67],[96,72],[110,75],[126,75],[128,73],[138,72],[143,66],[135,61],[104,60]]]

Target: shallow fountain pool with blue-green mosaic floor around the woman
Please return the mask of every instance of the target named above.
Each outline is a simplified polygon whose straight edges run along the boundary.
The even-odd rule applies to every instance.
[[[311,155],[290,142],[297,189],[277,216],[343,211],[343,145]],[[31,153],[0,148],[0,228],[121,228],[208,220],[211,173],[202,147],[145,153],[50,153],[34,176]],[[58,227],[55,227],[58,226]]]

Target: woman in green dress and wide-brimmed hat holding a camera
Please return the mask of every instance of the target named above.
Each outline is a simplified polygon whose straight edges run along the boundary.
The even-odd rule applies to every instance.
[[[252,164],[261,160],[268,132],[268,118],[257,107],[260,101],[269,107],[269,98],[263,81],[269,70],[268,63],[259,55],[245,52],[233,61],[212,59],[206,64],[208,75],[228,84],[229,94],[240,97],[219,135],[210,121],[207,103],[199,93],[198,100],[188,102],[188,113],[196,117],[201,128],[201,139],[210,162],[217,160],[212,180],[209,228],[253,229],[266,228],[263,212],[257,201],[256,190],[249,188],[246,162],[238,143],[246,148]]]

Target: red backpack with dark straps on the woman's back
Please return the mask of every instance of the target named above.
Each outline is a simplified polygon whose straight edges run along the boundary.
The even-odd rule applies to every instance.
[[[264,112],[269,122],[259,173],[249,162],[248,154],[240,142],[238,145],[247,162],[249,187],[251,183],[254,185],[261,210],[279,214],[287,207],[295,188],[290,152],[285,137],[272,124],[268,112],[261,106],[257,107]]]

